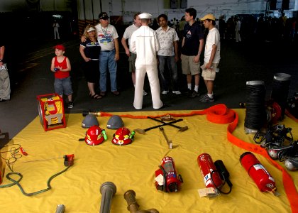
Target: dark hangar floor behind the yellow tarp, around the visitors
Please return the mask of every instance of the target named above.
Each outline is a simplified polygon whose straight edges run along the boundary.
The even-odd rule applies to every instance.
[[[0,103],[0,129],[5,133],[2,138],[16,136],[26,125],[38,116],[36,96],[54,92],[53,73],[50,61],[53,58],[53,46],[63,43],[65,55],[72,64],[72,86],[75,107],[65,108],[66,113],[82,113],[83,110],[96,111],[135,111],[133,108],[133,84],[128,72],[127,57],[121,48],[121,60],[118,61],[118,90],[121,95],[115,97],[108,93],[99,100],[88,96],[87,82],[84,79],[79,55],[79,40],[27,40],[10,46],[11,63],[11,100]],[[289,97],[298,91],[297,43],[235,43],[232,40],[221,42],[220,71],[216,74],[214,103],[199,102],[199,98],[190,99],[185,95],[162,95],[162,102],[170,105],[162,110],[206,109],[214,104],[226,104],[229,108],[238,108],[239,102],[245,102],[245,82],[263,80],[266,86],[266,99],[270,98],[272,80],[275,73],[291,75]],[[180,90],[185,92],[187,84],[179,69]],[[150,92],[148,80],[145,90]],[[108,89],[109,91],[109,89]],[[200,93],[206,93],[201,79]],[[143,111],[152,111],[150,93],[143,99]],[[2,141],[3,142],[3,141]],[[5,143],[4,143],[5,144]]]

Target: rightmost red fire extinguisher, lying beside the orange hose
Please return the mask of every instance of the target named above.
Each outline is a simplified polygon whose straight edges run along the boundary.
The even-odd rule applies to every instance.
[[[240,156],[240,162],[261,192],[276,192],[274,178],[267,172],[260,161],[255,158],[253,153],[243,153]]]

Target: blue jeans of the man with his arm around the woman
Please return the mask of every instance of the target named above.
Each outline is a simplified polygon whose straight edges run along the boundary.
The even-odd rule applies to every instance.
[[[100,91],[106,92],[106,69],[109,67],[111,92],[117,91],[117,62],[115,60],[115,49],[111,51],[101,51],[99,54]]]

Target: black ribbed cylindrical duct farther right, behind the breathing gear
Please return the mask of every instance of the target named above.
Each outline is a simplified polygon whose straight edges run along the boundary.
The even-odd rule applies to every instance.
[[[277,102],[282,109],[281,119],[285,117],[285,108],[287,107],[287,97],[289,95],[289,84],[291,75],[286,73],[276,73],[273,76],[271,99]]]

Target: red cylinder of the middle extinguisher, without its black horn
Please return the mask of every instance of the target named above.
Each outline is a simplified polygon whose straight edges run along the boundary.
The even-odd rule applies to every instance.
[[[220,189],[223,185],[223,182],[219,176],[219,173],[216,172],[216,167],[211,156],[207,153],[202,153],[198,156],[197,162],[199,164],[205,186]]]

